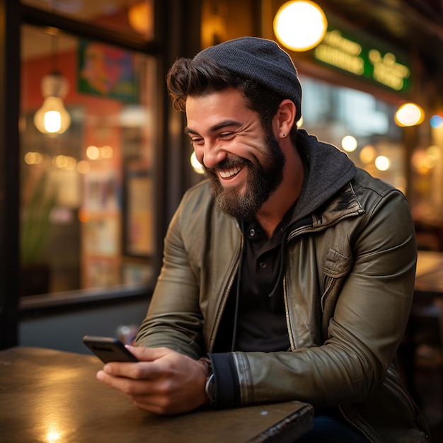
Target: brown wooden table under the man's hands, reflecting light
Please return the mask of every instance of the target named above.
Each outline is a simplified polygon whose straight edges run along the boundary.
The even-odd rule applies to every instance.
[[[0,352],[0,442],[294,442],[313,408],[289,401],[163,417],[96,380],[90,355],[38,347]]]

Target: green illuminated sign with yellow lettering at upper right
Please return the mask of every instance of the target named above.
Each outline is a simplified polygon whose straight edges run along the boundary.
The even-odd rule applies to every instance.
[[[340,30],[328,30],[313,50],[313,57],[324,64],[371,79],[394,91],[410,86],[410,68],[398,61],[396,54],[382,51],[344,37]]]

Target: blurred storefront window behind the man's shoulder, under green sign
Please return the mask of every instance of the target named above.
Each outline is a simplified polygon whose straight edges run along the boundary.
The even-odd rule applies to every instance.
[[[301,127],[345,151],[357,166],[406,190],[402,130],[396,108],[369,93],[301,76]]]

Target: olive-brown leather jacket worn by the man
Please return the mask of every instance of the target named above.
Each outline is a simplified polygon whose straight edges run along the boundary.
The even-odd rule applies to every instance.
[[[307,134],[300,144],[311,172],[284,244],[291,352],[229,353],[241,405],[305,401],[338,408],[370,442],[425,442],[427,425],[395,364],[415,279],[408,204],[333,146]],[[325,168],[334,165],[342,173],[331,176]],[[316,186],[321,192],[307,192]],[[136,344],[195,359],[210,353],[242,246],[238,222],[214,207],[210,184],[188,190]]]

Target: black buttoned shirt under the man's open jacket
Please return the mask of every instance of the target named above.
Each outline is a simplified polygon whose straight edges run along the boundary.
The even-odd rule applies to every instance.
[[[245,246],[240,269],[241,280],[238,284],[237,276],[232,286],[213,352],[273,352],[289,349],[280,268],[284,266],[281,256],[282,241],[286,241],[284,229],[291,220],[294,205],[269,239],[255,219],[243,222]],[[233,344],[234,328],[236,337]]]

